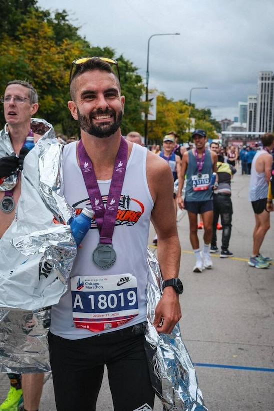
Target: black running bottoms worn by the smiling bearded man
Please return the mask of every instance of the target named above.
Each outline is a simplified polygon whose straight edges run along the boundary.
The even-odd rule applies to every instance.
[[[115,411],[153,409],[144,348],[145,323],[78,340],[48,334],[57,411],[95,411],[107,365]],[[113,409],[111,404],[109,408]],[[150,408],[145,408],[150,409]]]

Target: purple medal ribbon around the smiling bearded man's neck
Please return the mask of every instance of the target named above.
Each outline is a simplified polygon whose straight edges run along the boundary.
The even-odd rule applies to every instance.
[[[107,206],[104,207],[102,196],[96,180],[96,175],[82,140],[79,141],[77,153],[84,182],[89,194],[91,207],[95,212],[95,219],[100,233],[100,243],[111,244],[115,226],[119,200],[127,166],[128,146],[121,136],[120,147],[115,159]]]

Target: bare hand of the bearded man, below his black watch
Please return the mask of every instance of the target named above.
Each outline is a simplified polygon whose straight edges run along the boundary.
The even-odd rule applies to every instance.
[[[179,295],[173,287],[165,287],[162,298],[155,309],[154,327],[157,332],[170,334],[181,317]]]

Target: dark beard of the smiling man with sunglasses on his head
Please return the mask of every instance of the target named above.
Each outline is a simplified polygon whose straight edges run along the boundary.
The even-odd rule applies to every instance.
[[[112,114],[114,118],[114,123],[109,124],[108,122],[106,123],[101,123],[99,126],[96,126],[92,123],[93,116],[95,115],[104,115],[104,114]],[[85,131],[86,133],[90,135],[94,135],[95,137],[99,138],[104,138],[104,137],[110,137],[113,135],[118,128],[121,126],[122,119],[123,119],[123,111],[121,110],[116,118],[116,113],[113,110],[107,109],[105,111],[103,110],[96,110],[92,113],[90,113],[89,117],[84,116],[80,114],[78,108],[77,108],[77,115],[78,115],[78,123],[80,128]]]

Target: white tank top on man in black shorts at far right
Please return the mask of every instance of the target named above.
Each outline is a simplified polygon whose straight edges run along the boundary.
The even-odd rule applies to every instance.
[[[249,201],[258,201],[267,198],[268,183],[265,179],[265,173],[258,173],[256,171],[256,161],[260,155],[265,153],[266,151],[264,150],[257,151],[253,158],[250,175]]]

